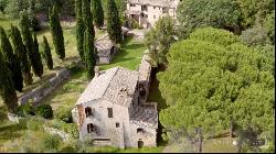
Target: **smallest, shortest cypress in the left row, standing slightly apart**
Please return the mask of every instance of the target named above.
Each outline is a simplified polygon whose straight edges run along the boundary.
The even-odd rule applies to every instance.
[[[43,51],[42,51],[42,57],[44,58],[47,69],[52,70],[53,69],[53,58],[51,54],[51,48],[47,43],[47,38],[45,35],[43,35]]]

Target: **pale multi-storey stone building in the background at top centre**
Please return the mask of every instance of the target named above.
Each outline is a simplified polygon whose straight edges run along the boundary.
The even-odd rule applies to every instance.
[[[177,6],[182,0],[126,0],[126,15],[142,28],[152,28],[159,18],[177,18]]]

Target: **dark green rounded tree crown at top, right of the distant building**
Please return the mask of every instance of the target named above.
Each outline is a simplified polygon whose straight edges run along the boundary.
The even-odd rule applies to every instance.
[[[214,26],[241,31],[238,4],[233,0],[183,0],[177,10],[181,37],[200,26]]]

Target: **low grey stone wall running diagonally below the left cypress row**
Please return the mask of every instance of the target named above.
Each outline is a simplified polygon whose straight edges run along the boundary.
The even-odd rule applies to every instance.
[[[24,105],[31,100],[33,105],[40,102],[45,96],[51,94],[59,85],[65,79],[70,78],[70,72],[66,68],[59,70],[55,77],[51,78],[43,86],[39,86],[32,91],[23,95],[19,98],[19,105]]]

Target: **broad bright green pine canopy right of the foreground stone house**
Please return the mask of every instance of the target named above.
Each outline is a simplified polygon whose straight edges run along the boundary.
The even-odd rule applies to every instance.
[[[160,112],[162,125],[185,131],[187,138],[194,138],[194,129],[200,128],[210,138],[229,129],[232,121],[237,135],[273,135],[273,57],[235,43],[236,36],[226,31],[198,31],[197,36],[192,33],[172,45],[168,69],[158,75],[161,95],[170,106]],[[216,34],[227,37],[217,41]]]

